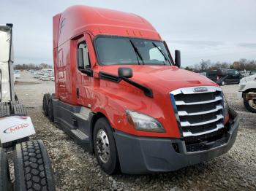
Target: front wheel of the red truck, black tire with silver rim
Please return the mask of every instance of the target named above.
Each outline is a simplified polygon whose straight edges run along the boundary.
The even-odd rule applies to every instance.
[[[107,174],[118,169],[118,154],[112,128],[105,118],[97,120],[94,127],[94,152],[99,165]]]

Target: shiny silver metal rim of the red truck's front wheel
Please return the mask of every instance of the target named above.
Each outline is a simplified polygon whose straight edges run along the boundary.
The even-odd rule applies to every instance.
[[[108,135],[105,130],[100,129],[97,133],[96,148],[99,155],[99,159],[102,163],[108,163],[110,158],[110,146],[108,141]]]

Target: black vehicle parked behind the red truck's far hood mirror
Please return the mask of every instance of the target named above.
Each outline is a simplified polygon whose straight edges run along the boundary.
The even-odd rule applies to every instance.
[[[217,70],[206,71],[206,77],[214,82],[217,82]],[[243,76],[240,74],[239,71],[234,69],[227,69],[227,78],[225,79],[223,84],[238,84],[242,77]]]

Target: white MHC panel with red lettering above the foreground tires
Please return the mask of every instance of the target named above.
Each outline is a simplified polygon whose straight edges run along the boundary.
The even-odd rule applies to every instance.
[[[30,117],[12,116],[0,118],[1,143],[15,141],[26,136],[31,136],[34,133],[36,132]]]

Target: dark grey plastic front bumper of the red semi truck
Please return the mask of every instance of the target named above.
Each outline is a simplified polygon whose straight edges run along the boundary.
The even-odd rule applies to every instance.
[[[187,152],[181,139],[164,139],[132,136],[116,130],[114,137],[121,171],[124,174],[148,174],[176,171],[188,165],[210,160],[226,153],[234,144],[239,120],[235,117],[227,131],[227,141],[207,143],[208,150]],[[173,144],[178,145],[177,149]]]

